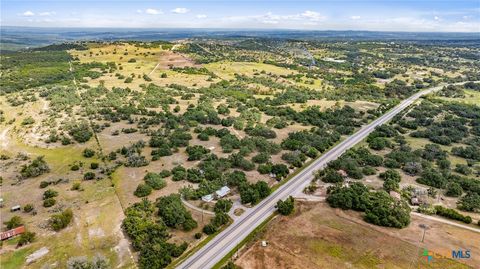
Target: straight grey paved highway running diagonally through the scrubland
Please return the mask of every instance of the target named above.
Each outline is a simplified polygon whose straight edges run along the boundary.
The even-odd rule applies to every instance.
[[[462,84],[462,83],[457,83]],[[225,255],[233,250],[245,237],[247,237],[258,225],[265,221],[275,211],[275,205],[278,200],[285,199],[302,191],[314,177],[314,172],[324,168],[330,161],[340,157],[346,150],[362,141],[372,132],[375,127],[391,120],[399,112],[407,108],[413,102],[423,95],[432,93],[441,89],[445,85],[429,88],[418,92],[402,101],[392,110],[383,116],[363,126],[355,134],[348,137],[340,144],[316,159],[312,164],[303,169],[299,174],[291,178],[287,183],[270,194],[253,208],[247,209],[235,222],[218,234],[214,239],[208,242],[203,248],[188,257],[177,268],[212,268]]]

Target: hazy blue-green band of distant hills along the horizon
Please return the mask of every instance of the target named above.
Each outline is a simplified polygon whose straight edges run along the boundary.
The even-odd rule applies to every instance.
[[[372,31],[306,31],[252,29],[127,29],[127,28],[0,28],[2,51],[47,46],[78,40],[179,40],[187,38],[268,37],[299,40],[408,40],[415,42],[461,42],[478,44],[479,33],[419,33]]]

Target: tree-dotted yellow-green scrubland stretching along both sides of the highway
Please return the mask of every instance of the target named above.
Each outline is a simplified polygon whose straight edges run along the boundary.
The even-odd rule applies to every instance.
[[[468,42],[237,36],[3,53],[2,231],[25,231],[2,241],[1,268],[174,267],[310,161],[436,86],[315,173],[304,195],[336,209],[296,202],[258,238],[268,246],[250,243],[235,263],[474,267],[478,255],[427,263],[422,248],[477,253],[480,238],[410,212],[478,227],[475,53]]]

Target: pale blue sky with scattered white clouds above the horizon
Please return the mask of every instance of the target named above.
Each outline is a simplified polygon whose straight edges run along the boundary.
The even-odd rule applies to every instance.
[[[2,0],[0,24],[480,32],[480,0]]]

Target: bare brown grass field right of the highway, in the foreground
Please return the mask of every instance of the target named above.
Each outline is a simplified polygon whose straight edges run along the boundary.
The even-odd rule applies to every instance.
[[[476,268],[480,263],[473,256],[465,262],[443,258],[428,262],[423,256],[424,249],[478,252],[480,235],[475,232],[419,217],[412,217],[405,229],[381,228],[324,203],[298,202],[296,208],[292,216],[273,219],[239,252],[235,264],[241,268]],[[430,227],[423,243],[420,224]]]

